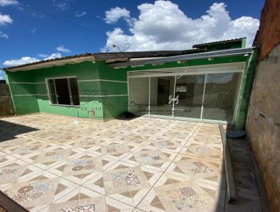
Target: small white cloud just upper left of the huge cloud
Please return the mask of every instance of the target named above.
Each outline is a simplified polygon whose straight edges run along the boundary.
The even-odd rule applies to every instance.
[[[125,19],[130,25],[132,25],[132,18],[130,18],[130,11],[127,11],[126,8],[111,8],[110,11],[105,12],[105,22],[107,24],[113,24],[118,22],[120,18]]]

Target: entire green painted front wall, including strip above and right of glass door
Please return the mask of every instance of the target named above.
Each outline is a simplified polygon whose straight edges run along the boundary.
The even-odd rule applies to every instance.
[[[244,128],[248,99],[253,81],[255,52],[249,57],[234,56],[214,58],[214,60],[189,60],[184,63],[168,62],[164,65],[145,65],[144,67],[126,67],[113,69],[106,62],[80,62],[73,65],[50,67],[27,72],[6,72],[13,103],[17,114],[45,112],[70,117],[106,120],[119,117],[127,111],[127,72],[146,69],[163,69],[172,67],[188,67],[197,65],[214,65],[228,62],[246,62],[244,81],[241,85],[242,99],[239,101],[236,128]],[[73,77],[78,80],[80,107],[50,105],[45,78]],[[90,81],[92,80],[92,81]],[[13,84],[13,82],[21,82]],[[36,84],[22,84],[36,82]]]

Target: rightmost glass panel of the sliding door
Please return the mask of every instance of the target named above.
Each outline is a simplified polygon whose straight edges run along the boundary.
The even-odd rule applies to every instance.
[[[207,74],[202,119],[231,123],[240,82],[241,73]]]

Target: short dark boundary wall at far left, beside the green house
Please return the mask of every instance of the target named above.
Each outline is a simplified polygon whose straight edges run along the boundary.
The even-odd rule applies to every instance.
[[[0,117],[14,115],[13,102],[7,84],[0,84]]]

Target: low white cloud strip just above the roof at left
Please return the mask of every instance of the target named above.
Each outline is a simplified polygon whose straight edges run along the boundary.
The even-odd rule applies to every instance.
[[[52,53],[51,55],[38,54],[38,56],[43,58],[43,60],[51,60],[51,59],[62,57],[62,55],[60,53]],[[24,65],[27,63],[38,62],[38,61],[40,61],[40,60],[38,60],[37,58],[22,57],[18,60],[6,60],[5,62],[3,62],[3,65],[16,66],[16,65]]]

